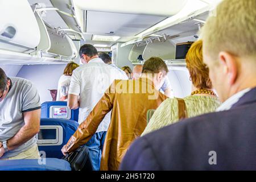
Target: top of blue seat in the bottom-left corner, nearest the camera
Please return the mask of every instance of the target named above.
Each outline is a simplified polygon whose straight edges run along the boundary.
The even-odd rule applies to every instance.
[[[63,159],[0,160],[0,171],[71,171],[71,167]]]

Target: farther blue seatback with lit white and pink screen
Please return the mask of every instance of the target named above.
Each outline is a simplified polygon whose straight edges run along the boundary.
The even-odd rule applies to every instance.
[[[79,120],[79,109],[68,109],[67,101],[44,102],[41,107],[41,118],[62,118]]]

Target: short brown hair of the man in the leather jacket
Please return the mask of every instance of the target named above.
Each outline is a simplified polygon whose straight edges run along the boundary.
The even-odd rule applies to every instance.
[[[160,57],[150,57],[143,64],[142,73],[159,73],[163,72],[164,75],[168,73],[166,63]]]

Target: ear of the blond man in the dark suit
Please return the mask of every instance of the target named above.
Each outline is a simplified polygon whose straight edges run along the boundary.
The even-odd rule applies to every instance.
[[[224,75],[228,77],[229,84],[233,85],[234,82],[236,82],[238,74],[238,64],[236,56],[228,52],[220,52],[218,56],[222,65],[221,69],[223,69]]]

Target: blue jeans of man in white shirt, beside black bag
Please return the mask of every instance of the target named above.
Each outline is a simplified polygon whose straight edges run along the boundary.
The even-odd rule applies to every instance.
[[[101,154],[103,150],[103,145],[106,137],[106,131],[97,132],[90,138],[86,143],[89,148],[90,158],[92,159],[92,165],[94,171],[100,171],[101,165]]]

